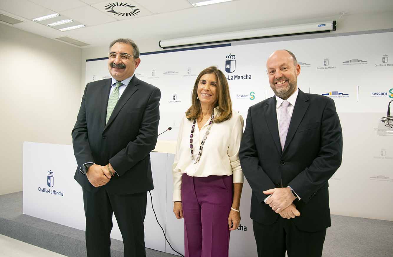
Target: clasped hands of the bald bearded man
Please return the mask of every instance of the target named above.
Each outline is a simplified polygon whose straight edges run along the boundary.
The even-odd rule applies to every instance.
[[[292,203],[296,197],[292,195],[289,187],[276,187],[263,191],[265,195],[271,195],[266,204],[272,207],[275,213],[278,213],[283,218],[294,218],[300,216],[296,206]]]

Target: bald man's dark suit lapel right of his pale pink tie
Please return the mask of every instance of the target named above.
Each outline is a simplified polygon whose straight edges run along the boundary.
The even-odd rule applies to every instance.
[[[296,98],[296,103],[294,107],[294,111],[292,112],[291,121],[289,123],[288,133],[286,134],[284,150],[288,148],[289,143],[291,142],[292,138],[295,135],[296,130],[300,125],[301,120],[304,117],[307,109],[309,108],[310,103],[308,103],[309,97],[303,91],[299,89],[298,97]]]

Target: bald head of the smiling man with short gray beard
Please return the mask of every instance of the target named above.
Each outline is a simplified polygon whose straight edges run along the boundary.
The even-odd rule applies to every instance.
[[[266,62],[270,87],[281,99],[288,99],[298,88],[300,65],[295,55],[288,50],[277,50]]]

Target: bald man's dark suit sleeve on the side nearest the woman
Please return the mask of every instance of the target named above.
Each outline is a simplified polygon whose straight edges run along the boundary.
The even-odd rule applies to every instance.
[[[257,148],[255,146],[254,129],[251,115],[251,107],[248,109],[246,128],[239,149],[239,158],[242,171],[250,184],[252,191],[259,203],[268,196],[263,191],[275,188],[276,186],[259,165]]]

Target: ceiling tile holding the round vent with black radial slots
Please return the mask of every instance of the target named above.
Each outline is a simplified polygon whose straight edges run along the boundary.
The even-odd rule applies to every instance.
[[[129,20],[153,14],[140,4],[128,0],[127,2],[105,1],[92,6],[118,20]]]

